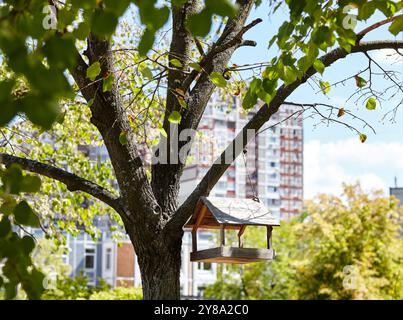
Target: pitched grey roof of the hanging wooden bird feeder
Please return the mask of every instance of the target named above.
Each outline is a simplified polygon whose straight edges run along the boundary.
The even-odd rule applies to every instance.
[[[185,228],[215,229],[221,225],[239,229],[244,225],[279,226],[280,222],[253,199],[201,197]]]

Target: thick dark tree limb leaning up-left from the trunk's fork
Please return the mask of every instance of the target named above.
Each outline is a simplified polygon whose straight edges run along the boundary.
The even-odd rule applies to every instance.
[[[87,39],[87,49],[84,54],[88,57],[89,64],[100,62],[101,73],[97,79],[91,82],[87,78],[88,66],[78,52],[76,66],[69,71],[84,98],[87,101],[93,99],[90,106],[91,122],[102,135],[116,174],[122,195],[122,207],[125,209],[125,214],[121,214],[121,217],[126,229],[135,229],[141,234],[140,237],[148,237],[157,228],[158,213],[161,210],[147,179],[117,81],[115,80],[111,91],[103,92],[102,90],[103,77],[114,70],[111,44],[108,40],[100,39],[91,33]],[[119,142],[122,132],[127,132],[128,142],[125,145]],[[147,221],[145,227],[135,228],[140,223],[144,225],[144,221]]]

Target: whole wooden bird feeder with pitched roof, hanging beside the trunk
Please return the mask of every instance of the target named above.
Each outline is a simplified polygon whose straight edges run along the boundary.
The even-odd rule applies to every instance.
[[[271,235],[273,226],[280,223],[268,209],[253,199],[201,197],[192,217],[184,226],[192,230],[190,261],[244,264],[273,260]],[[267,249],[244,248],[242,235],[246,226],[267,228]],[[198,229],[220,229],[220,246],[197,250]],[[225,245],[225,230],[238,230],[238,247]]]

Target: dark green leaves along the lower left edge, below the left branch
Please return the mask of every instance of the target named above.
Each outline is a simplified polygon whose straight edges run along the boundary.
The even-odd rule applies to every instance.
[[[21,284],[30,299],[39,299],[44,288],[44,275],[32,263],[31,253],[35,248],[32,236],[21,236],[13,226],[20,228],[39,226],[37,214],[20,193],[39,191],[41,182],[37,177],[24,174],[18,165],[0,169],[0,288],[5,289],[5,298],[13,299]]]

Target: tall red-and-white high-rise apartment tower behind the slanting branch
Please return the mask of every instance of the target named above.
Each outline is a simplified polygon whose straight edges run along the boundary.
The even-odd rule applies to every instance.
[[[194,163],[186,167],[181,183],[181,200],[191,192],[208,168],[242,130],[253,112],[239,111],[212,98],[200,123]],[[278,114],[257,132],[246,153],[238,156],[211,192],[211,196],[252,198],[257,196],[280,219],[298,214],[303,199],[303,125],[293,115],[298,107],[283,105]]]

